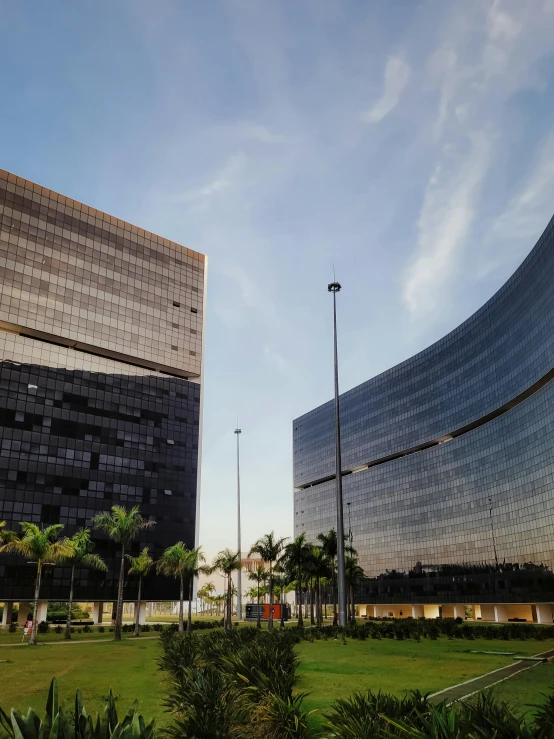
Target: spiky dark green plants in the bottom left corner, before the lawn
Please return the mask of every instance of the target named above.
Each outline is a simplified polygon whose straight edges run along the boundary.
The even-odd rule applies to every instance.
[[[115,698],[110,694],[103,715],[87,714],[83,697],[75,694],[73,715],[66,714],[58,699],[56,678],[50,683],[46,702],[46,716],[40,719],[30,708],[25,715],[12,708],[10,716],[0,708],[0,739],[153,739],[155,721],[145,724],[137,713],[137,702],[127,712],[123,721],[117,718]]]

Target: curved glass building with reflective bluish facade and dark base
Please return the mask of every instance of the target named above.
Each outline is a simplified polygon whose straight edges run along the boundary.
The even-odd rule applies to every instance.
[[[553,329],[554,219],[461,326],[341,396],[345,521],[377,578],[360,602],[554,602]],[[336,526],[333,403],[293,436],[295,533],[313,540]],[[524,565],[527,590],[514,585]],[[477,591],[452,586],[478,566],[494,574]],[[401,573],[419,596],[391,585]],[[429,589],[431,576],[446,583]]]

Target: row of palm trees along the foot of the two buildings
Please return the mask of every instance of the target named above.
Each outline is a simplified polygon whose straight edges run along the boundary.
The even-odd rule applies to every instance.
[[[139,607],[142,593],[142,581],[153,568],[160,574],[173,577],[179,581],[179,617],[178,630],[184,631],[184,600],[185,581],[188,580],[188,618],[187,631],[192,630],[192,599],[194,592],[194,578],[200,574],[220,573],[224,578],[225,592],[222,596],[213,596],[213,583],[198,591],[198,595],[206,600],[223,607],[224,627],[229,630],[232,624],[233,595],[236,592],[233,585],[233,573],[239,570],[241,553],[231,549],[224,549],[218,553],[211,565],[206,564],[201,547],[188,549],[182,541],[168,547],[155,562],[150,556],[148,547],[145,547],[137,557],[127,553],[127,549],[139,533],[154,525],[153,521],[144,518],[138,506],[127,510],[123,506],[114,505],[110,512],[99,513],[92,519],[92,527],[103,531],[119,545],[121,564],[118,575],[117,604],[114,620],[114,637],[121,639],[123,621],[123,586],[125,582],[125,563],[130,563],[128,574],[138,577],[138,593],[135,604],[135,635],[140,633]],[[91,529],[82,528],[72,537],[62,537],[63,525],[52,524],[46,528],[39,528],[36,524],[23,521],[20,524],[21,532],[16,534],[5,528],[5,522],[0,521],[0,554],[16,554],[36,563],[34,614],[38,612],[42,570],[45,564],[71,565],[71,579],[69,590],[69,607],[65,638],[71,639],[71,611],[73,604],[73,590],[76,567],[89,567],[106,571],[107,566],[103,559],[95,554],[94,543],[91,539]],[[355,620],[354,590],[363,579],[364,572],[358,564],[356,550],[351,544],[345,544],[346,582],[348,595],[348,615]],[[270,606],[274,605],[274,596],[277,592],[279,600],[283,602],[283,594],[287,590],[294,590],[298,608],[298,625],[303,626],[305,611],[313,625],[323,624],[324,593],[331,594],[333,609],[333,624],[337,623],[337,535],[332,529],[327,534],[319,534],[317,544],[310,544],[304,534],[287,543],[287,538],[276,538],[271,532],[258,539],[250,548],[249,556],[257,555],[263,564],[248,574],[255,583],[249,591],[249,596],[256,599],[258,606],[261,598],[268,596]],[[304,609],[302,604],[304,603]],[[325,611],[327,606],[325,605]],[[258,607],[257,626],[261,628],[260,608]],[[269,629],[273,629],[273,608],[270,608]],[[281,609],[281,626],[284,626],[284,610]],[[33,618],[29,643],[35,644],[37,637],[37,622]]]

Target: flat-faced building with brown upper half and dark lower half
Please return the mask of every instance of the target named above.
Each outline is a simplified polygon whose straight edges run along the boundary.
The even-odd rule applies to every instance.
[[[90,526],[114,504],[155,526],[132,554],[196,542],[206,258],[0,170],[0,520]],[[75,597],[116,596],[119,553]],[[35,567],[0,556],[0,601],[28,601]],[[70,569],[41,597],[66,600]],[[128,578],[125,599],[137,583]],[[145,600],[176,600],[152,576]]]

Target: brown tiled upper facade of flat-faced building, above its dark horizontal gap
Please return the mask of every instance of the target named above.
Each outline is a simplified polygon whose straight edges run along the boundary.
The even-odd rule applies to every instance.
[[[0,170],[0,321],[199,376],[204,268],[198,252]]]

